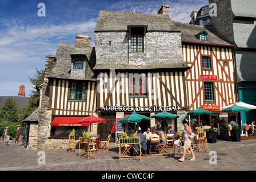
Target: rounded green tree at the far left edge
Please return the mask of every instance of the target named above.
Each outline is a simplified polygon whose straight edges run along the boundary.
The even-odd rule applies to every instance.
[[[2,131],[11,123],[17,123],[19,112],[16,101],[12,97],[7,97],[5,104],[0,109],[0,130]]]

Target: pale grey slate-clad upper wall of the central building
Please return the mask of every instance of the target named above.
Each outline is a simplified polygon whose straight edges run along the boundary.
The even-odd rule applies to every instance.
[[[94,35],[97,61],[105,64],[145,65],[148,62],[164,65],[183,61],[180,32],[146,32],[143,52],[131,52],[129,31],[95,32]]]

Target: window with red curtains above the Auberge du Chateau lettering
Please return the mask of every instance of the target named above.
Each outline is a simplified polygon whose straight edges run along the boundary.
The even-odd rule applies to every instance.
[[[130,96],[146,96],[147,84],[146,74],[129,74]]]

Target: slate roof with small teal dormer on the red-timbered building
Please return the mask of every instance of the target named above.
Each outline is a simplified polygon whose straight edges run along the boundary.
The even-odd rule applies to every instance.
[[[225,42],[225,40],[221,39],[221,35],[218,34],[213,27],[204,27],[204,26],[198,26],[195,24],[188,24],[188,23],[182,23],[182,22],[176,22],[176,21],[173,21],[173,23],[175,24],[175,26],[181,29],[182,41],[233,46],[232,44],[229,44]],[[200,40],[199,36],[197,36],[199,32],[202,32],[203,30],[205,30],[208,33],[206,41]]]

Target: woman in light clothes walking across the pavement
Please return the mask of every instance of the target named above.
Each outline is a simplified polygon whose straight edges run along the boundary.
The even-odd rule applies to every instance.
[[[183,146],[183,155],[182,155],[182,158],[179,159],[179,161],[181,161],[181,162],[184,161],[185,155],[186,155],[186,151],[190,151],[191,152],[192,158],[190,160],[195,160],[194,152],[193,152],[193,150],[191,148],[191,139],[189,138],[189,135],[192,135],[191,127],[188,125],[187,119],[182,121],[182,124],[184,126],[184,130],[183,130],[183,134],[181,135],[179,140],[181,140],[181,138],[184,136],[184,146]]]

